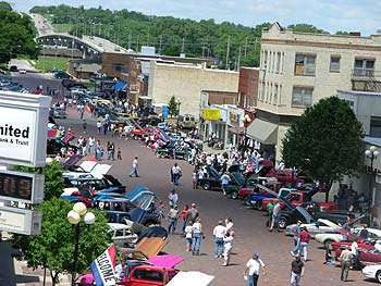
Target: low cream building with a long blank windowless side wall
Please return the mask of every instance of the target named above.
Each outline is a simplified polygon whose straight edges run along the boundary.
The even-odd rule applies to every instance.
[[[174,96],[181,103],[181,114],[198,117],[202,90],[237,92],[238,73],[207,69],[205,65],[151,61],[148,97],[152,104],[167,104]]]

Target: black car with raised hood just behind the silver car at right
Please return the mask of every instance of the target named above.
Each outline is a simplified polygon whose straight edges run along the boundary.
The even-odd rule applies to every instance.
[[[345,224],[348,216],[353,216],[353,213],[347,211],[331,211],[322,212],[320,208],[314,202],[303,203],[300,207],[287,206],[281,211],[279,227],[285,228],[290,224],[295,224],[297,221],[303,223],[312,223],[319,219],[329,220],[335,224]]]

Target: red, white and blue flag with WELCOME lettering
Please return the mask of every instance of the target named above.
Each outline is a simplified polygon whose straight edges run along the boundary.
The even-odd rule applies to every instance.
[[[115,246],[111,245],[90,265],[97,286],[114,286],[115,282]]]

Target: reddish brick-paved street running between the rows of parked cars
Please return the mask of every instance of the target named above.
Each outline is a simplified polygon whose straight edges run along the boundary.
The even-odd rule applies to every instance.
[[[20,79],[26,86],[28,84],[35,86],[39,82],[39,79],[30,76]],[[53,86],[53,84],[57,84],[57,82],[52,82],[49,85]],[[70,117],[71,120],[61,123],[74,127],[77,133],[82,132],[75,111],[70,112]],[[167,201],[167,196],[171,188],[169,170],[174,163],[173,160],[157,159],[139,141],[120,141],[116,138],[97,135],[94,124],[89,124],[87,132],[94,134],[103,145],[107,140],[113,140],[116,148],[122,148],[122,161],[106,162],[113,165],[110,171],[111,174],[125,184],[127,189],[132,189],[136,184],[145,184],[163,201]],[[127,176],[135,156],[139,158],[140,178],[130,178]],[[268,268],[268,275],[260,278],[259,285],[288,285],[290,263],[292,261],[288,254],[292,247],[291,239],[282,233],[269,233],[265,227],[266,216],[263,216],[263,213],[247,210],[241,201],[226,199],[218,191],[193,190],[190,179],[192,166],[184,161],[179,161],[179,163],[184,174],[180,186],[180,204],[197,202],[207,234],[206,240],[202,241],[201,256],[199,257],[193,257],[184,251],[183,237],[174,235],[170,238],[170,243],[164,250],[186,258],[180,269],[199,270],[216,275],[212,285],[245,285],[242,273],[246,261],[251,252],[256,250],[261,253],[261,258]],[[232,256],[232,265],[223,268],[221,266],[222,261],[213,257],[211,232],[217,221],[226,216],[233,217],[237,236],[233,247],[235,254]],[[349,278],[353,281],[348,283],[340,282],[340,269],[322,264],[324,252],[319,249],[319,245],[312,241],[309,248],[311,261],[308,261],[306,264],[306,273],[302,285],[372,285],[372,283],[364,281],[359,272],[349,273]]]

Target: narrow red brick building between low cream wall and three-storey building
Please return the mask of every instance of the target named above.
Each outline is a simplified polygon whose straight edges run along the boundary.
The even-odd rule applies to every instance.
[[[251,110],[255,105],[257,105],[258,82],[259,69],[246,66],[239,67],[239,108]]]

